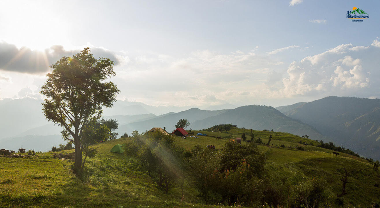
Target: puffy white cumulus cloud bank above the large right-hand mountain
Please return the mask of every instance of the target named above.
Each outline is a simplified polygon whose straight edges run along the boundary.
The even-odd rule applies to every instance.
[[[285,97],[326,94],[352,96],[352,93],[367,97],[379,94],[379,61],[376,57],[380,50],[375,47],[371,51],[367,50],[369,47],[342,44],[321,54],[294,61],[288,67],[279,93]]]

